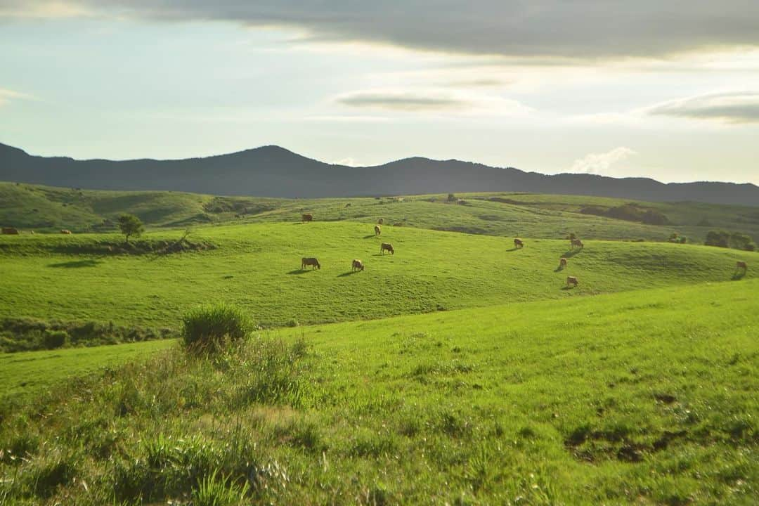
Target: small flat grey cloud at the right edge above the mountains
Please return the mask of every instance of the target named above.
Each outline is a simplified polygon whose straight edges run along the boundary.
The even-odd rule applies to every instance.
[[[650,115],[716,120],[726,123],[759,123],[759,92],[712,93],[672,100],[648,109]]]

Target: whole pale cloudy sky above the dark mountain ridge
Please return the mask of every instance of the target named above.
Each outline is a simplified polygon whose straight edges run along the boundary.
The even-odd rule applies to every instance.
[[[0,0],[0,143],[759,184],[759,2]]]

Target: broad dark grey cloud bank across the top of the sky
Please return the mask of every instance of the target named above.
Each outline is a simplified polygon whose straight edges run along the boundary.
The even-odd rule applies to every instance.
[[[528,58],[666,56],[759,46],[754,0],[0,0],[0,12],[65,5],[155,20],[227,20],[296,27],[320,41]]]

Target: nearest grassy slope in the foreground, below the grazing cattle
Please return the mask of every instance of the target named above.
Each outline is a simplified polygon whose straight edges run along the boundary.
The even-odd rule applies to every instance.
[[[0,499],[754,504],[757,288],[283,329],[215,360],[175,349],[0,408]]]

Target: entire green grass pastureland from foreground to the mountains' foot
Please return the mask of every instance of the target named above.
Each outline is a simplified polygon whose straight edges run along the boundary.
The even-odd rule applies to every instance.
[[[176,335],[218,302],[259,325],[210,357],[173,339],[0,354],[0,504],[755,504],[759,256],[664,242],[755,234],[754,209],[646,203],[673,223],[653,226],[579,212],[622,200],[459,197],[0,184],[16,225],[150,225],[128,247],[0,236],[0,338],[18,319],[72,345]]]

